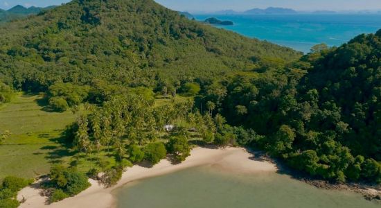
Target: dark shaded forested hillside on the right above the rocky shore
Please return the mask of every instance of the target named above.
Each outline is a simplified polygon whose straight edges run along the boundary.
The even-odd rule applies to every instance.
[[[299,62],[267,62],[202,86],[196,106],[215,103],[231,125],[290,166],[336,182],[380,182],[381,39],[359,35],[339,48],[312,48]],[[205,107],[204,107],[205,108]],[[239,144],[247,134],[236,130]],[[227,144],[223,134],[218,144]]]

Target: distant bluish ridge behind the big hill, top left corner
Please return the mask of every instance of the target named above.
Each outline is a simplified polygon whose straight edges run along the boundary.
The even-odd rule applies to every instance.
[[[48,6],[45,8],[31,6],[26,8],[21,5],[17,5],[15,7],[10,8],[9,10],[1,10],[0,9],[0,23],[11,21],[13,19],[19,19],[22,17],[26,17],[28,15],[37,15],[39,12],[44,10],[48,10],[51,8],[55,8],[56,6]]]

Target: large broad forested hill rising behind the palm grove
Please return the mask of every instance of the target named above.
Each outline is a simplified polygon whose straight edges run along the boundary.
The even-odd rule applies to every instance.
[[[35,91],[57,80],[152,86],[157,71],[193,80],[301,55],[204,26],[152,0],[74,0],[6,24],[0,49],[3,81]]]

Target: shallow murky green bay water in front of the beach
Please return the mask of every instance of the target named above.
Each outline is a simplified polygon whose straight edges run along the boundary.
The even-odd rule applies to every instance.
[[[116,191],[119,208],[250,207],[380,208],[360,194],[317,189],[278,173],[224,173],[198,167],[127,184]]]

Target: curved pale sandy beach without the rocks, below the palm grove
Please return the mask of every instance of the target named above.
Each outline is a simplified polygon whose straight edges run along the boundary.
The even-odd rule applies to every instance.
[[[122,187],[129,182],[140,180],[145,177],[154,177],[166,173],[172,173],[195,166],[216,166],[224,171],[237,171],[240,173],[260,173],[275,172],[276,166],[269,162],[259,162],[253,159],[251,153],[243,148],[224,148],[224,149],[207,149],[194,148],[190,157],[181,164],[173,165],[168,160],[162,160],[159,164],[152,168],[144,168],[141,166],[133,166],[123,173],[122,179],[116,186],[104,189],[98,182],[89,180],[91,187],[78,194],[78,196],[67,198],[52,205],[45,205],[46,198],[39,195],[39,189],[26,187],[19,192],[17,198],[21,200],[26,198],[26,202],[21,204],[21,208],[39,208],[39,207],[57,207],[57,208],[107,208],[115,207],[115,198],[112,191],[118,187]]]

